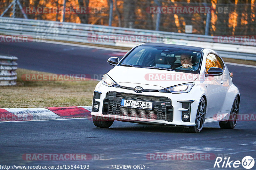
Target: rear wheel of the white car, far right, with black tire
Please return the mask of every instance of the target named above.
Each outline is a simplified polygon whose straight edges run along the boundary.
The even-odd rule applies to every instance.
[[[239,100],[238,97],[236,96],[232,109],[229,114],[229,119],[228,121],[221,121],[219,122],[220,128],[221,129],[234,129],[237,124],[237,117],[238,117],[238,112],[239,112]]]

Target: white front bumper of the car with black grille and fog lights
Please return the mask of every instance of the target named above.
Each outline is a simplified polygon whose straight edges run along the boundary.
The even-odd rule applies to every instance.
[[[96,95],[95,95],[96,94]],[[142,92],[136,93],[129,89],[108,87],[101,82],[96,86],[92,107],[99,104],[99,109],[92,110],[91,115],[108,117],[119,121],[193,126],[195,124],[198,100],[201,96],[198,93],[161,93]],[[153,110],[120,107],[121,99],[132,99],[153,102]],[[189,113],[189,119],[182,119],[184,113]]]

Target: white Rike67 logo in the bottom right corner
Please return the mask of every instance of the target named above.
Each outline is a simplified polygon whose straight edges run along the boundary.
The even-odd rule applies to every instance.
[[[221,157],[217,157],[214,163],[214,168],[238,168],[239,166],[243,166],[245,169],[251,169],[254,166],[254,159],[251,156],[245,156],[242,161],[240,160],[230,160],[230,157],[225,157],[222,159]]]

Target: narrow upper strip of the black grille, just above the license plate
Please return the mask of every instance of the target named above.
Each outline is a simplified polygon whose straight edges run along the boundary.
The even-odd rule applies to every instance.
[[[129,93],[121,93],[121,92],[108,92],[107,96],[113,97],[121,97],[121,98],[128,98],[128,99],[137,99],[137,100],[148,100],[148,101],[156,101],[156,102],[171,102],[168,97],[161,97],[161,96],[147,96],[147,95],[136,95],[136,94],[129,94]]]

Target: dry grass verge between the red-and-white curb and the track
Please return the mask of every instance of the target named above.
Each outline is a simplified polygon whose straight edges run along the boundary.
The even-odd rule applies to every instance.
[[[23,81],[22,74],[49,74],[16,70],[17,85],[0,87],[0,108],[86,106],[92,104],[98,81]]]

